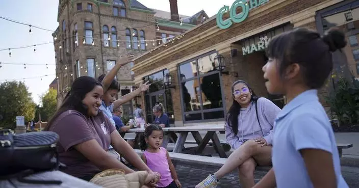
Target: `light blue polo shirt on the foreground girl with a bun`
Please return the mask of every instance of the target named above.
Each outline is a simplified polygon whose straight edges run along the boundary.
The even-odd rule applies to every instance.
[[[317,90],[308,90],[290,101],[275,120],[272,164],[278,188],[312,188],[301,149],[332,154],[338,188],[348,188],[341,174],[334,132],[320,104]],[[322,169],[323,171],[325,169]]]

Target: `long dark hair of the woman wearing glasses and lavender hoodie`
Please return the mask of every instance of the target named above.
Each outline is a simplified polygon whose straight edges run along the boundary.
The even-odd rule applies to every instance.
[[[235,83],[232,84],[233,103],[232,106],[230,106],[229,111],[227,113],[226,123],[228,124],[228,126],[232,127],[232,131],[235,133],[235,135],[237,135],[238,133],[238,116],[240,115],[241,105],[235,100],[234,98],[235,96],[233,95],[233,92],[234,92],[234,87],[239,83],[245,84],[248,87],[249,91],[251,92],[250,102],[257,101],[259,98],[257,95],[255,95],[254,91],[249,87],[249,85],[243,80],[237,80]]]

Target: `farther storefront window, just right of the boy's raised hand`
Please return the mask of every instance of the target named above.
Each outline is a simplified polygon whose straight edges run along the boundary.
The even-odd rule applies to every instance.
[[[167,73],[169,72],[165,69],[143,77],[144,82],[149,81],[151,84],[145,92],[145,111],[148,123],[151,123],[155,119],[152,108],[156,103],[162,103],[164,105],[164,113],[169,117],[170,123],[174,123],[171,90],[166,87],[163,82],[164,75]]]

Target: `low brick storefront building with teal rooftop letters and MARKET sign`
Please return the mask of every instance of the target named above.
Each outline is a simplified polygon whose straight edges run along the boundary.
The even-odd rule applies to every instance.
[[[175,126],[224,123],[226,112],[233,102],[230,87],[238,79],[246,80],[257,95],[283,107],[283,96],[269,95],[264,85],[262,66],[266,63],[264,48],[268,40],[297,27],[323,33],[328,29],[325,20],[336,14],[340,18],[334,19],[336,22],[333,24],[342,28],[351,25],[350,30],[343,31],[353,42],[350,49],[347,49],[348,46],[345,48],[347,54],[340,51],[334,53],[335,68],[355,65],[350,59],[347,63],[345,55],[354,55],[354,59],[358,56],[354,51],[357,47],[351,50],[357,45],[351,36],[356,33],[357,37],[359,31],[356,24],[359,19],[358,1],[250,0],[246,5],[239,0],[234,2],[235,7],[218,7],[219,14],[188,30],[183,36],[176,36],[179,40],[174,43],[156,47],[135,60],[132,68],[136,75],[135,83],[142,80],[152,83],[149,91],[141,96],[148,122],[154,118],[152,106],[155,102],[162,102],[165,113]],[[237,8],[241,6],[247,11],[238,12],[241,9]],[[232,16],[228,19],[230,11]],[[345,16],[349,19],[339,20],[345,19]],[[218,60],[221,60],[222,66]],[[323,96],[329,89],[330,86],[327,86],[320,90],[323,104]]]

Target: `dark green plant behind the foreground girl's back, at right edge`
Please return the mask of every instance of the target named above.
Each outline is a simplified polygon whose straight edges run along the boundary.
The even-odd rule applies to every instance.
[[[359,81],[340,77],[327,102],[342,125],[359,124]]]

